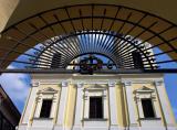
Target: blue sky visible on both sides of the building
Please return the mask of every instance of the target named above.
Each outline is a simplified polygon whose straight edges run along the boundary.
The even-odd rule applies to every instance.
[[[28,52],[33,53],[30,50]],[[158,48],[155,48],[154,52],[156,54],[156,53],[160,53],[162,51]],[[19,58],[23,61],[28,59],[27,56],[20,56]],[[164,59],[170,59],[170,58],[167,55],[162,55],[156,57],[157,62],[164,61]],[[9,68],[19,68],[19,67],[23,67],[23,65],[12,63],[9,66]],[[160,67],[177,68],[177,63],[163,64]],[[171,108],[177,120],[177,74],[165,74],[164,79],[165,79],[166,90],[171,104]],[[0,76],[0,84],[2,85],[4,90],[8,93],[8,95],[14,102],[14,105],[18,107],[20,112],[22,112],[24,107],[24,102],[30,88],[30,80],[31,80],[31,77],[30,75],[27,75],[27,74],[2,74]]]

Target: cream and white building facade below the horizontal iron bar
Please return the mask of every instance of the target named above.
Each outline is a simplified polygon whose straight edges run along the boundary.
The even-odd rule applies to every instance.
[[[160,74],[32,74],[19,130],[176,130]]]

